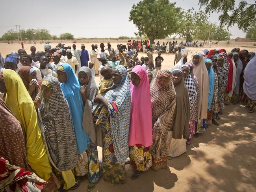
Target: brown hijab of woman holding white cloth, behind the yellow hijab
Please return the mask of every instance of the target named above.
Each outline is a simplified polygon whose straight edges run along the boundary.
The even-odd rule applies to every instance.
[[[27,90],[29,89],[29,84],[30,84],[29,74],[30,74],[31,69],[32,69],[31,66],[22,66],[22,67],[20,67],[19,72],[18,72],[18,74],[19,74],[20,78],[22,79]],[[33,90],[32,94],[31,94],[32,100],[35,100],[35,97],[41,90],[42,81],[38,80],[37,83],[38,83],[38,85],[35,87],[35,89]]]

